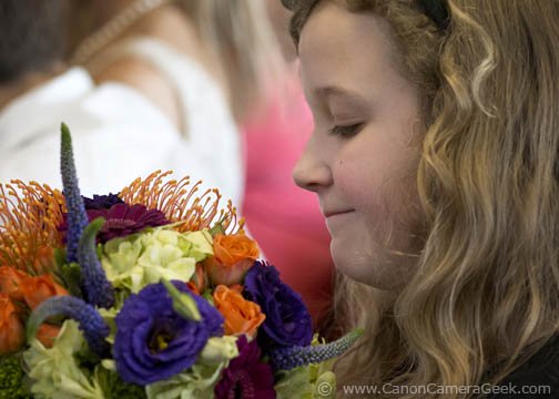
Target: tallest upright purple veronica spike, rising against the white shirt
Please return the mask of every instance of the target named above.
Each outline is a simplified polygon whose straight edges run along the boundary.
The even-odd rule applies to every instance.
[[[72,136],[70,130],[62,123],[61,126],[61,151],[60,172],[62,174],[62,185],[64,187],[64,198],[68,208],[68,263],[78,260],[78,246],[83,229],[88,225],[88,214],[80,195],[78,186],[78,174],[72,151]]]

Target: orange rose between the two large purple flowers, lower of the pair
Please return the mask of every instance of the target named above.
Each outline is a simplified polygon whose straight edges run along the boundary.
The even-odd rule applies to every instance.
[[[241,290],[241,286],[218,285],[213,293],[214,305],[225,318],[225,334],[246,334],[253,338],[266,316],[257,304],[243,298]]]

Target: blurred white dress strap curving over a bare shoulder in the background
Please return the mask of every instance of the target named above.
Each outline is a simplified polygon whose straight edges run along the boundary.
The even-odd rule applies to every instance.
[[[179,103],[181,133],[196,150],[196,162],[203,165],[204,175],[212,174],[211,181],[240,206],[244,193],[241,134],[222,89],[196,61],[149,37],[113,44],[91,66],[102,71],[124,58],[140,59],[165,76]]]

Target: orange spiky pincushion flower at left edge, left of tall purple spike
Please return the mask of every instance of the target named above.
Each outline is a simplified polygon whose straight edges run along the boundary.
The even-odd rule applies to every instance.
[[[0,265],[33,275],[48,272],[53,248],[62,246],[58,226],[63,212],[62,193],[45,184],[0,184]]]

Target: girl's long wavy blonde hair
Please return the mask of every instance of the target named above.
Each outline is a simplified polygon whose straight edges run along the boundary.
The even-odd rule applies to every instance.
[[[339,277],[338,323],[369,331],[339,386],[497,383],[559,330],[559,2],[448,0],[441,30],[418,1],[322,1],[390,23],[425,122],[417,273],[398,293]],[[295,43],[318,2],[284,0]]]

